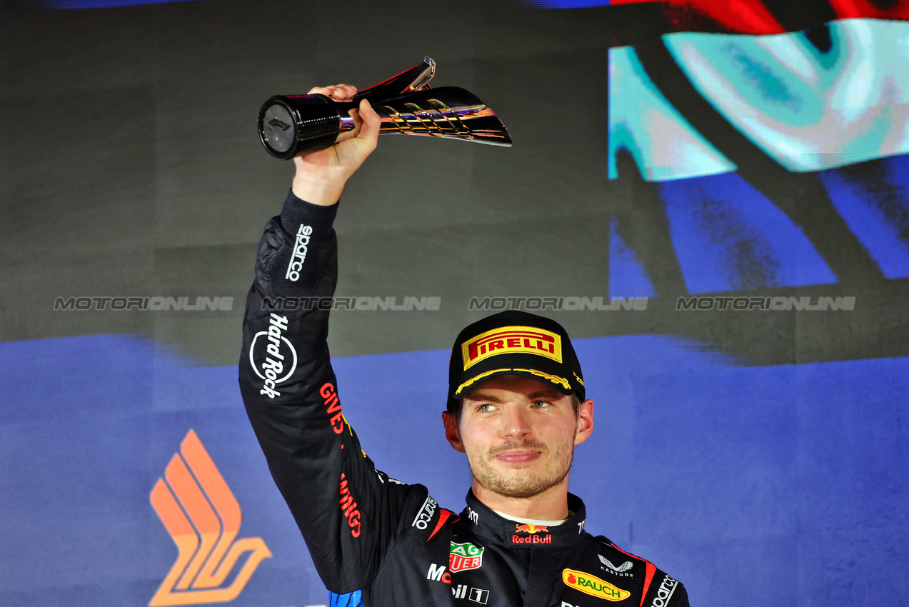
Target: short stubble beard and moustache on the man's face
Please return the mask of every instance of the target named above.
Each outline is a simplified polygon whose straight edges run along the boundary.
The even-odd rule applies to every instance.
[[[514,449],[539,451],[541,456],[549,454],[550,465],[538,473],[531,473],[522,468],[504,473],[492,465],[496,455]],[[489,453],[478,453],[468,458],[470,473],[481,487],[503,497],[514,498],[533,497],[562,483],[571,469],[573,460],[574,443],[561,444],[550,453],[544,444],[533,441],[504,443]],[[527,468],[529,467],[530,465],[527,466]]]

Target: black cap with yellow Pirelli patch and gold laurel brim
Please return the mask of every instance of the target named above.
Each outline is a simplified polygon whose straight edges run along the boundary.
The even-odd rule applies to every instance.
[[[568,333],[551,318],[506,310],[459,333],[448,363],[448,410],[472,386],[497,375],[524,375],[584,400],[581,364]]]

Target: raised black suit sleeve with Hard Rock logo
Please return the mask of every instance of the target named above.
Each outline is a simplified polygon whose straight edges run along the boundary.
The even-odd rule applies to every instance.
[[[265,226],[246,301],[240,389],[278,489],[325,586],[364,588],[425,501],[375,469],[341,408],[328,354],[337,204],[288,194]]]

